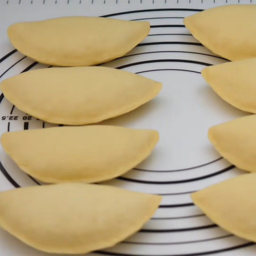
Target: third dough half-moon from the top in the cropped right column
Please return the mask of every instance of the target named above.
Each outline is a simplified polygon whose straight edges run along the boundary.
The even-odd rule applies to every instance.
[[[256,115],[215,125],[209,129],[208,137],[230,163],[242,170],[256,172]]]

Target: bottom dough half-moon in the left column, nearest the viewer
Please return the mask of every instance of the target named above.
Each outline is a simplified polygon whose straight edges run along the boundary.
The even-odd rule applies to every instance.
[[[115,245],[155,213],[161,196],[62,183],[0,193],[1,227],[44,252],[80,254]]]

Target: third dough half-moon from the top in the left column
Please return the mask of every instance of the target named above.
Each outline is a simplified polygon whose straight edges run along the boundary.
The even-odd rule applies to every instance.
[[[158,138],[155,130],[88,125],[6,132],[1,144],[24,172],[38,180],[97,182],[135,167]]]

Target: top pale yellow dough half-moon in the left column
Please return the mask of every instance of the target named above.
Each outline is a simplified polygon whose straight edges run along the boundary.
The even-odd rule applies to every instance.
[[[61,17],[8,28],[13,46],[44,64],[91,66],[123,56],[149,33],[148,21]]]

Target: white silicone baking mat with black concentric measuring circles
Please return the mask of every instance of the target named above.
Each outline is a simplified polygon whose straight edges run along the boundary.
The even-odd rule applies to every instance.
[[[140,108],[102,124],[156,129],[160,141],[147,160],[104,184],[161,194],[163,201],[138,233],[89,255],[256,255],[253,243],[219,228],[190,198],[193,191],[244,174],[214,150],[207,130],[248,113],[228,105],[205,83],[201,70],[226,60],[208,51],[183,25],[184,17],[224,4],[256,0],[1,0],[1,79],[47,67],[10,44],[6,29],[14,22],[73,15],[150,21],[150,34],[142,43],[104,66],[161,81],[163,90]],[[1,133],[54,126],[21,112],[3,94],[0,100]],[[41,184],[22,172],[2,148],[0,175],[1,191]],[[1,256],[49,255],[3,230],[0,245]]]

